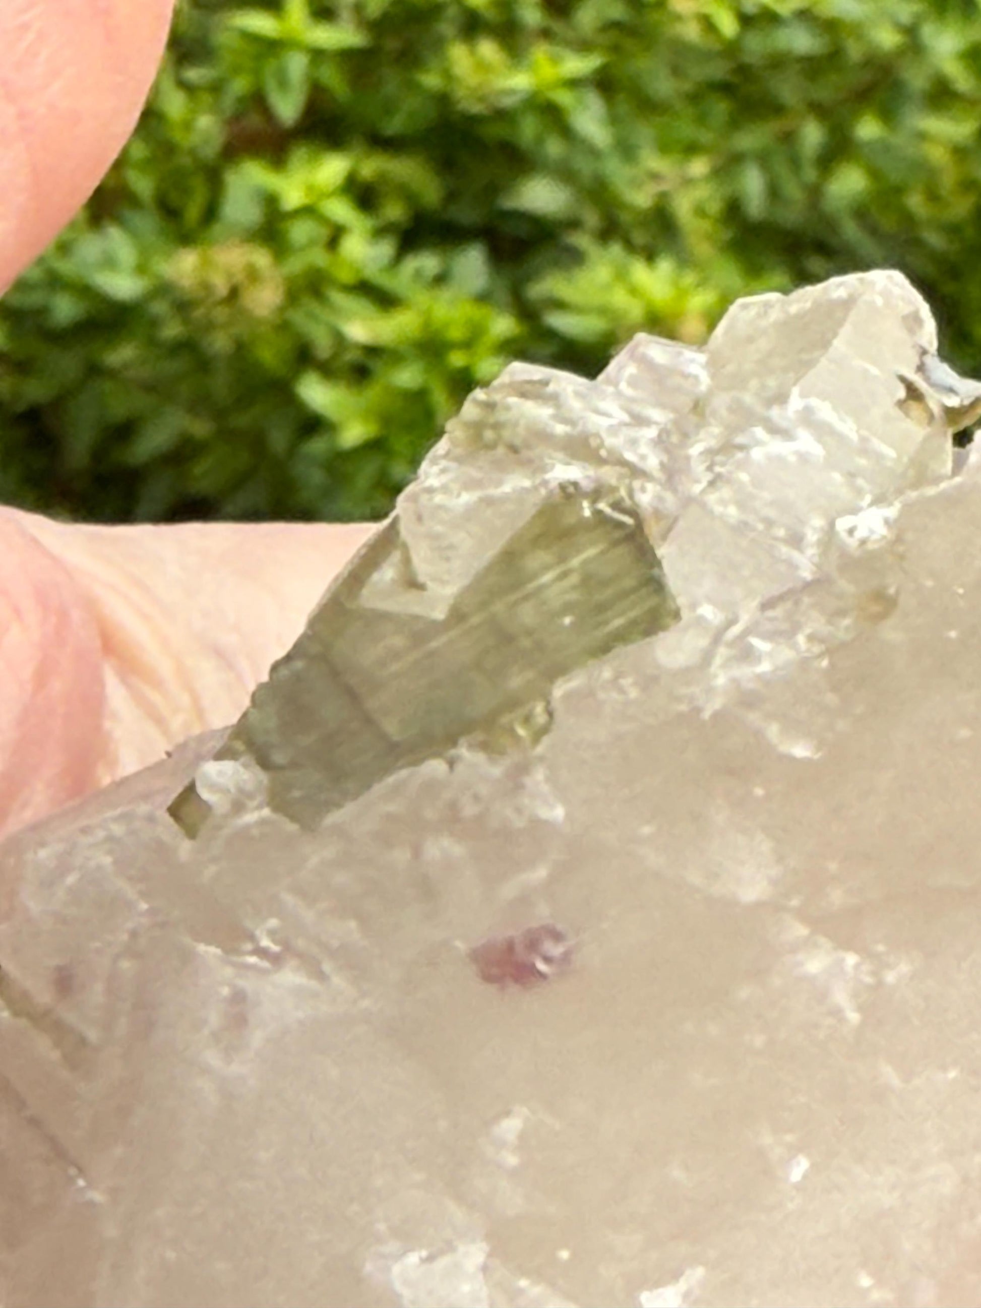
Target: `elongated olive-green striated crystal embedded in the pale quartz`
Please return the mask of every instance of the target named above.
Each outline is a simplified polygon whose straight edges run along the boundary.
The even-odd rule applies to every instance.
[[[233,729],[220,759],[251,757],[269,804],[305,827],[470,736],[514,739],[553,684],[678,619],[636,509],[557,488],[476,573],[442,620],[366,607],[402,548],[387,523],[311,617]],[[194,785],[170,806],[195,835]]]

